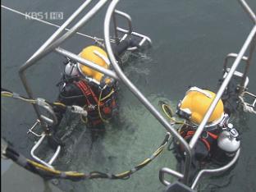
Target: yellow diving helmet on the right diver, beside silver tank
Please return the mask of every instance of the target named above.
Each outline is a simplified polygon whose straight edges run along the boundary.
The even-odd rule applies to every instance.
[[[185,117],[195,125],[203,121],[203,117],[208,111],[216,94],[212,91],[191,87],[185,94],[185,98],[178,104],[177,114]],[[224,106],[220,99],[215,107],[212,116],[208,119],[208,126],[217,125],[224,116]]]

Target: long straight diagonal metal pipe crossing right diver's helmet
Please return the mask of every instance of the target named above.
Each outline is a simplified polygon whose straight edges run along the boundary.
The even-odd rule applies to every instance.
[[[235,72],[235,69],[240,64],[241,59],[245,55],[246,49],[249,47],[249,44],[251,43],[252,39],[254,38],[254,34],[256,34],[256,25],[254,25],[253,30],[249,33],[249,36],[245,40],[245,43],[243,47],[240,49],[240,53],[238,53],[238,56],[235,59],[235,62],[231,66],[231,70],[226,75],[225,80],[223,80],[223,83],[220,87],[220,89],[217,91],[216,97],[214,98],[213,102],[211,103],[210,107],[208,108],[208,112],[206,112],[205,116],[203,117],[203,121],[200,123],[199,128],[195,131],[192,139],[190,140],[190,148],[193,149],[194,145],[196,144],[197,140],[199,139],[199,136],[203,132],[204,126],[207,124],[209,117],[211,117],[213,110],[215,109],[219,99],[222,97],[223,92],[226,89],[226,86],[231,80],[232,75]]]

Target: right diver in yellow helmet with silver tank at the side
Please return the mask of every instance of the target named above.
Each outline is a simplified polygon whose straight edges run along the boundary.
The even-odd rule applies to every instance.
[[[184,121],[176,121],[182,124],[179,128],[181,136],[189,143],[194,132],[203,121],[208,107],[216,97],[212,91],[191,87],[185,97],[178,103],[176,114]],[[231,161],[236,151],[240,149],[239,133],[229,122],[230,114],[227,114],[222,99],[215,107],[202,135],[194,146],[194,158],[192,159],[191,173],[198,171],[199,167],[209,163],[212,165],[225,165]],[[182,122],[182,123],[181,123]],[[185,151],[182,146],[174,140],[176,158],[182,169],[185,160]]]

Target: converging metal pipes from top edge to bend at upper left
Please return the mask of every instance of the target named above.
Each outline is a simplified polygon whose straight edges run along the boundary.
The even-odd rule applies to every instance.
[[[19,74],[20,74],[21,81],[25,87],[25,90],[26,90],[29,98],[33,98],[33,93],[32,93],[32,90],[30,89],[30,85],[28,84],[28,82],[25,78],[25,70],[28,69],[30,66],[34,65],[34,63],[37,62],[39,59],[41,59],[42,57],[44,57],[45,55],[50,53],[54,48],[57,48],[57,46],[60,43],[62,43],[64,40],[68,39],[72,34],[74,34],[77,30],[79,30],[82,25],[85,25],[85,22],[89,21],[89,19],[92,16],[94,16],[94,14],[101,7],[103,7],[103,5],[107,2],[107,0],[99,1],[80,21],[78,21],[76,23],[75,26],[73,26],[71,28],[71,30],[66,32],[66,34],[63,34],[63,36],[60,39],[57,39],[57,41],[53,43],[53,41],[57,38],[57,36],[59,34],[61,34],[62,30],[64,30],[66,28],[66,25],[69,25],[71,23],[71,21],[74,20],[75,17],[80,13],[80,11],[85,9],[85,7],[89,4],[89,2],[83,3],[82,6],[79,7],[71,15],[71,17],[69,19],[67,19],[67,21],[61,26],[61,28],[59,28],[45,43],[43,43],[43,46],[41,46],[41,48],[39,48],[39,50],[36,53],[34,53],[34,55],[32,57],[30,57],[30,59],[27,62],[25,62],[24,65],[21,66],[21,68],[19,70]],[[52,44],[50,44],[50,43],[52,43]],[[33,106],[34,106],[34,110],[35,110],[37,116],[39,117],[39,120],[41,120],[39,107],[37,107],[36,105],[33,105]]]

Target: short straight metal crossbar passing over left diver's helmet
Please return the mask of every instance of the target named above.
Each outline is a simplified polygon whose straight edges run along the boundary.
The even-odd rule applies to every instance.
[[[69,51],[66,51],[65,49],[63,48],[55,48],[55,52],[56,53],[59,53],[61,55],[64,55],[66,57],[69,57],[73,60],[75,60],[75,62],[80,62],[81,64],[85,65],[85,66],[89,66],[90,68],[98,71],[98,72],[101,72],[105,75],[108,75],[116,80],[118,80],[118,76],[117,74],[114,72],[114,71],[111,71],[111,70],[107,70],[105,69],[103,66],[98,66],[96,65],[94,62],[89,62],[88,60],[78,56],[78,55],[75,55],[74,53],[71,53]]]

